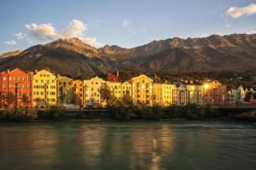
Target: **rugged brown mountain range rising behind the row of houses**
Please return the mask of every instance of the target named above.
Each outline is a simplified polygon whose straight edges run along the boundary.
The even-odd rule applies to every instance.
[[[158,72],[256,69],[256,34],[173,37],[136,48],[94,48],[79,38],[59,39],[0,55],[1,71],[15,67],[31,71],[49,68],[70,76],[131,67]]]

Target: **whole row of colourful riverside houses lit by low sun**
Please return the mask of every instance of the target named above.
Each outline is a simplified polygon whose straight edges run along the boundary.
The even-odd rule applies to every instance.
[[[216,80],[171,83],[157,76],[140,75],[121,82],[117,72],[116,75],[108,73],[106,80],[96,76],[82,81],[46,70],[27,72],[16,68],[0,73],[0,107],[25,105],[45,108],[68,103],[70,92],[79,99],[81,108],[102,105],[100,88],[103,85],[107,85],[116,99],[129,95],[135,105],[236,105],[243,101],[247,92],[242,87],[227,91],[226,86]]]

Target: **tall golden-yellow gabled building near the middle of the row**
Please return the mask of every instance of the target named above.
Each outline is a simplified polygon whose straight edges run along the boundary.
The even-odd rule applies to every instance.
[[[145,75],[131,78],[132,100],[135,105],[153,105],[153,80]]]

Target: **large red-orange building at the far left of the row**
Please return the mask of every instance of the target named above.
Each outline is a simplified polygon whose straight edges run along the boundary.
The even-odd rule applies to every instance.
[[[16,68],[0,73],[0,107],[29,106],[32,100],[32,74]]]

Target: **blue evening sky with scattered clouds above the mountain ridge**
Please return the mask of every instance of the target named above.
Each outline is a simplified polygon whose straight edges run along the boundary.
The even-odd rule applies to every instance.
[[[70,37],[96,48],[132,48],[256,33],[256,0],[1,0],[0,23],[0,54]]]

